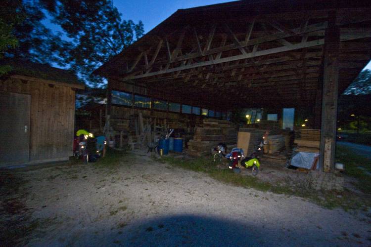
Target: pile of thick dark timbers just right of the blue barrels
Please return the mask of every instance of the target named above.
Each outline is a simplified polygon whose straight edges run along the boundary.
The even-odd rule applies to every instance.
[[[188,141],[187,154],[201,156],[209,153],[219,142],[231,150],[237,143],[237,128],[227,120],[204,119],[203,127],[196,127],[193,139]]]

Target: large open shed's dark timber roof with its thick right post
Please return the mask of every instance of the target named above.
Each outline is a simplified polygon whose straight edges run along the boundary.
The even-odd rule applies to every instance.
[[[139,86],[215,110],[310,107],[322,169],[333,171],[337,97],[370,61],[370,11],[370,1],[345,0],[180,9],[95,73],[111,91]]]

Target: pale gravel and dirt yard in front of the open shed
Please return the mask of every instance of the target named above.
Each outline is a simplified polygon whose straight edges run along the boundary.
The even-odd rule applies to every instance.
[[[223,184],[125,155],[110,166],[53,165],[0,173],[0,245],[370,246],[371,210]],[[263,179],[290,176],[263,169]]]

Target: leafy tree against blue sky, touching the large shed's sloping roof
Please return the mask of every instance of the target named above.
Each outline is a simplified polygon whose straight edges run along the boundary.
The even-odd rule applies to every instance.
[[[102,78],[92,72],[143,35],[143,24],[122,20],[111,0],[41,0],[69,41],[60,43],[60,65],[68,66],[92,86]]]

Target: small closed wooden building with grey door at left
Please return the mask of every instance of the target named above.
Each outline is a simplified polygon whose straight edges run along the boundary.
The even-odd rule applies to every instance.
[[[11,72],[0,78],[0,167],[68,160],[75,90],[84,84],[49,65],[15,60],[10,65]]]

